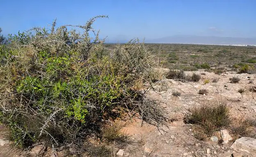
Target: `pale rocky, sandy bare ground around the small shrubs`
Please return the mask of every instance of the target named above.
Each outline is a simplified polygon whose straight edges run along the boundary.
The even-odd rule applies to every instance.
[[[219,130],[216,136],[200,141],[193,136],[191,124],[185,124],[183,117],[188,108],[211,101],[225,101],[231,106],[231,119],[256,119],[256,92],[249,91],[256,86],[256,74],[235,74],[226,72],[221,75],[208,72],[201,75],[199,82],[179,82],[163,79],[155,83],[155,91],[149,97],[154,98],[165,107],[168,116],[168,126],[157,128],[146,124],[142,120],[133,119],[121,122],[124,124],[123,132],[130,135],[134,141],[124,148],[120,148],[117,157],[254,157],[256,156],[256,139],[242,137],[235,140],[229,130]],[[230,77],[239,77],[240,82],[231,83]],[[217,78],[218,82],[212,80]],[[210,80],[205,84],[205,80]],[[238,90],[244,88],[244,93]],[[207,95],[200,95],[200,89],[207,89]],[[173,96],[178,91],[180,96]],[[0,156],[7,156],[10,142],[0,139]],[[218,139],[223,139],[219,144]],[[31,154],[32,152],[30,152]],[[18,157],[26,154],[9,151],[8,157]]]

